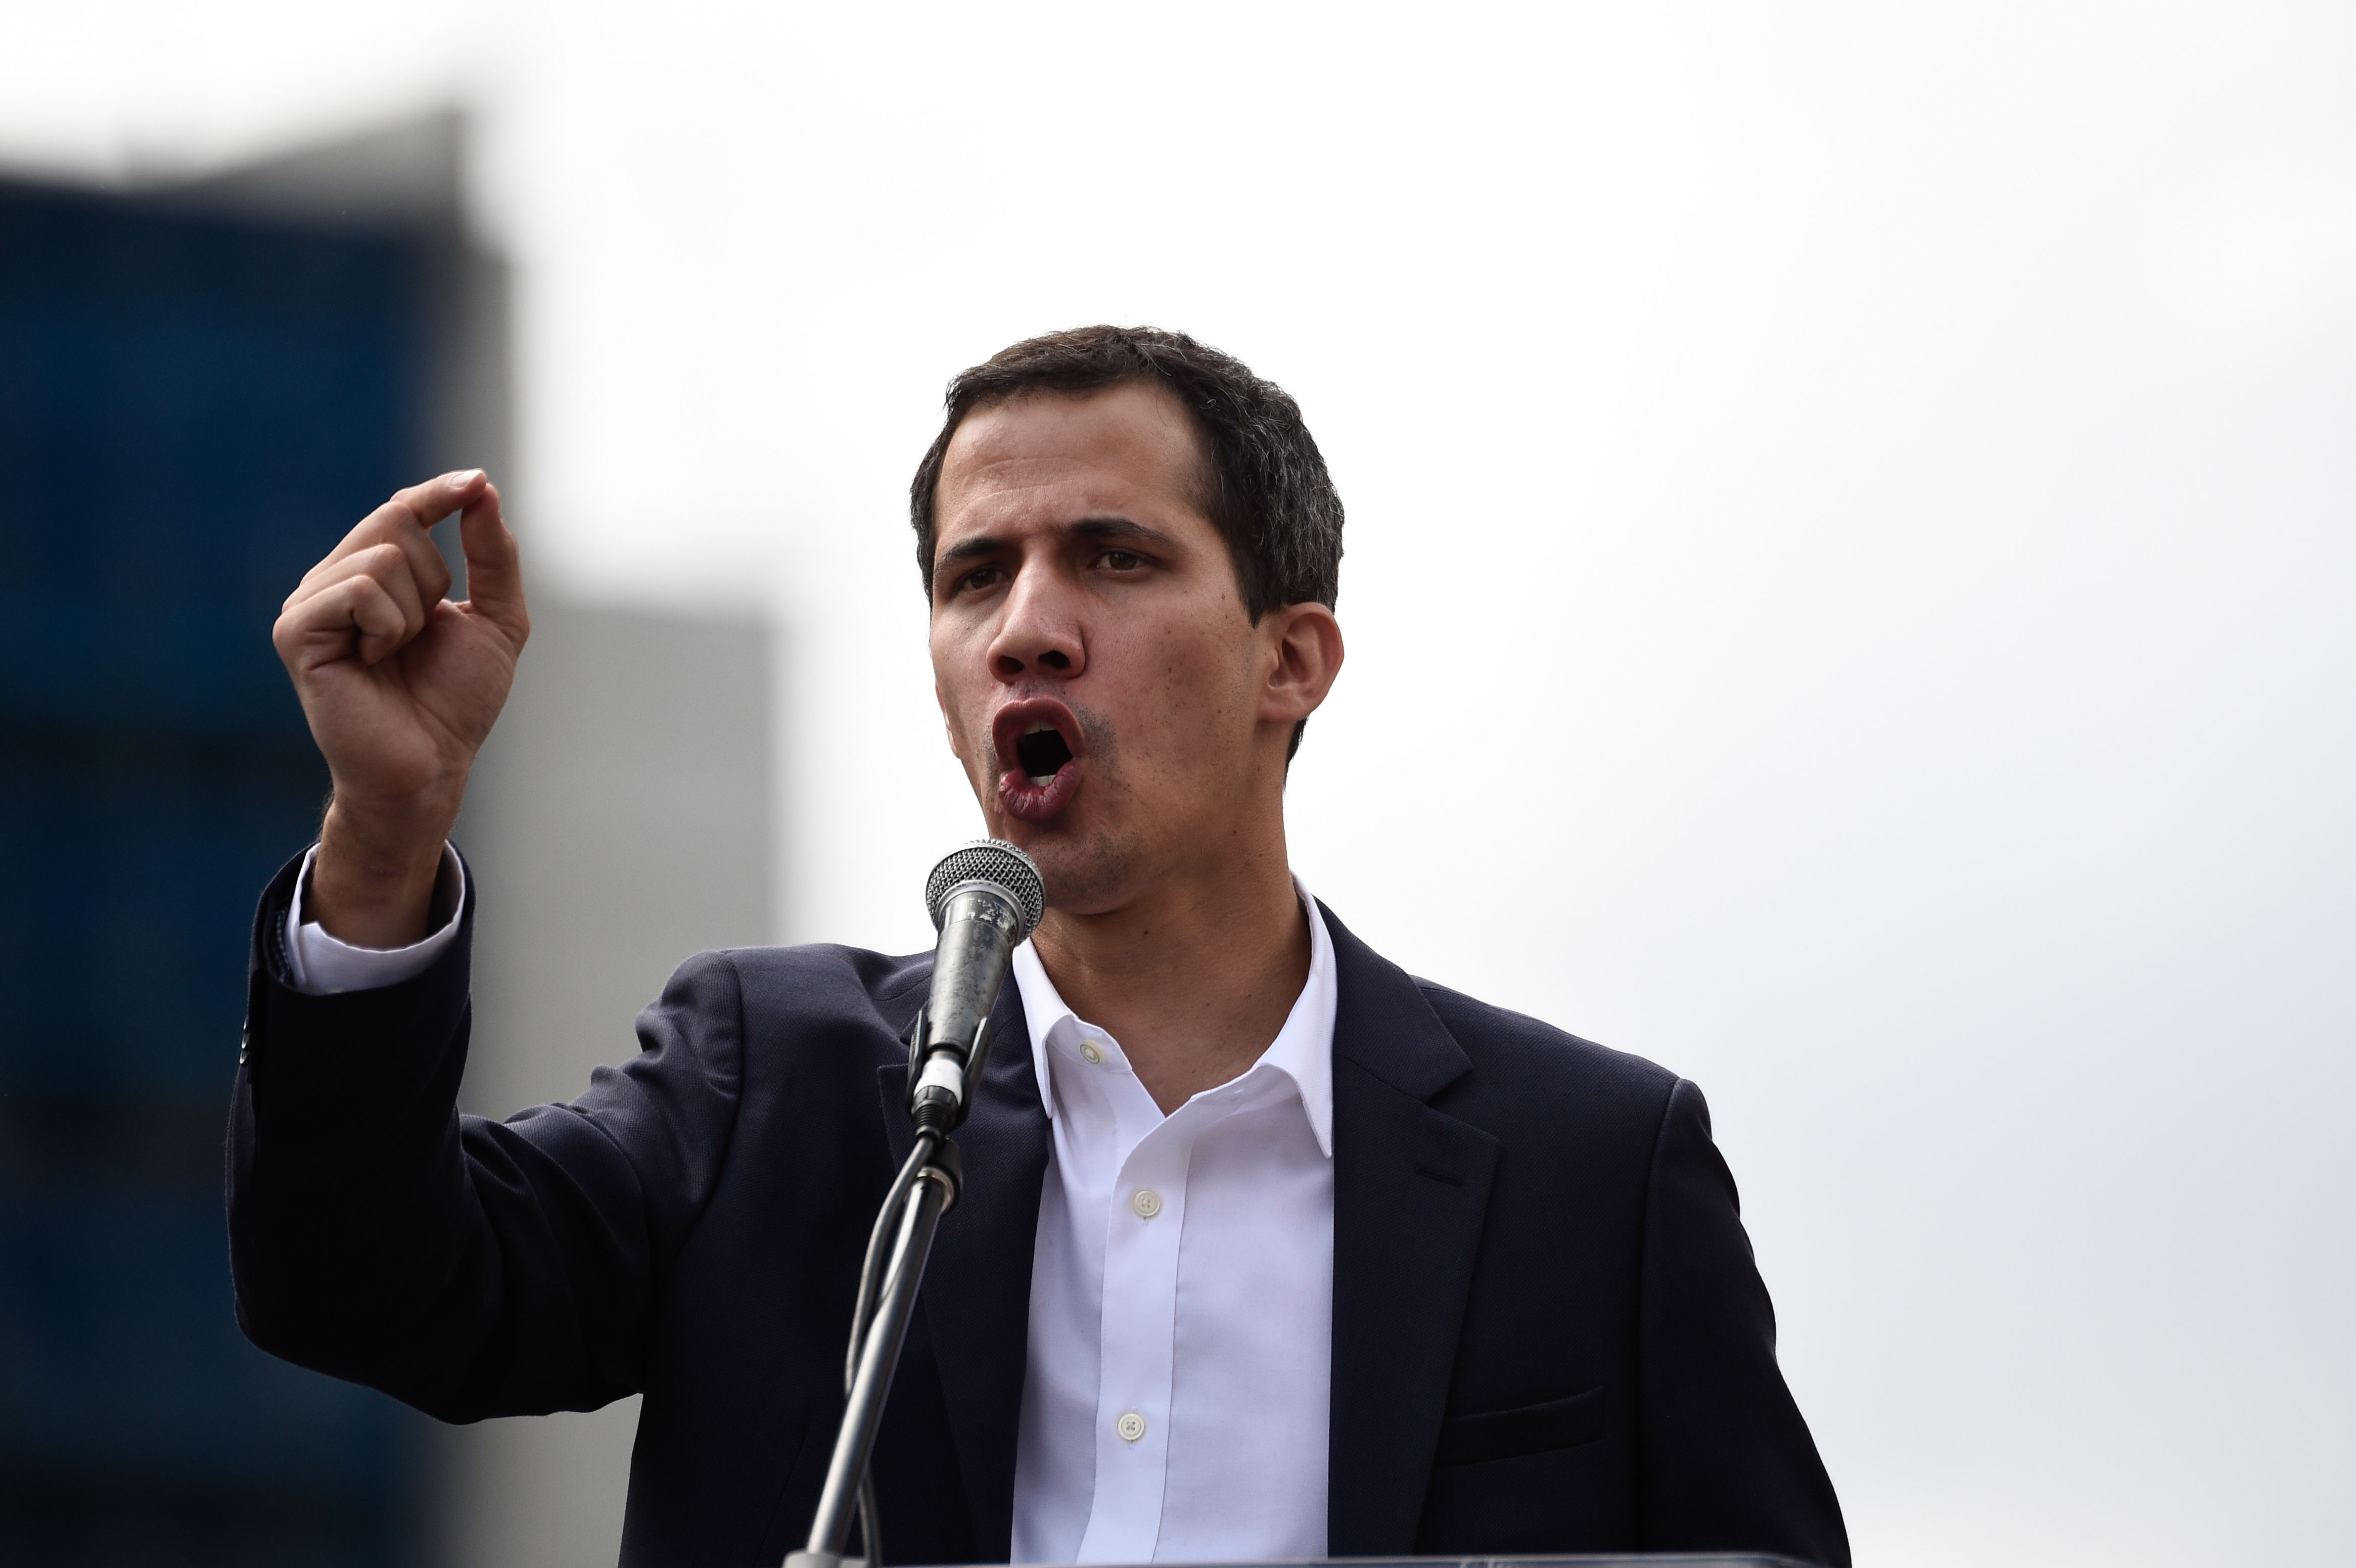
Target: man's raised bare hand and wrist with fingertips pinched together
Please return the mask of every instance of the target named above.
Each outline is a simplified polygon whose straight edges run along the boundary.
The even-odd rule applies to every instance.
[[[459,513],[471,598],[426,534]],[[311,567],[271,629],[335,798],[309,913],[356,946],[426,935],[434,876],[474,753],[516,678],[532,622],[516,537],[481,469],[412,485]]]

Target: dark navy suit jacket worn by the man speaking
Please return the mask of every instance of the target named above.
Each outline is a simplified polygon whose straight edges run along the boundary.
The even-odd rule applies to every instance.
[[[777,1563],[841,1413],[909,1144],[931,958],[688,961],[573,1104],[459,1116],[469,937],[379,991],[285,984],[264,892],[229,1130],[254,1344],[443,1420],[643,1394],[622,1563]],[[1845,1568],[1840,1504],[1701,1092],[1333,932],[1336,1556],[1755,1549]],[[891,1561],[1004,1561],[1048,1121],[1015,986],[959,1130],[874,1476]]]

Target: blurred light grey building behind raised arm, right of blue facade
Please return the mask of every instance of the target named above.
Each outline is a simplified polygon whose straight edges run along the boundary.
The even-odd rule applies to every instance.
[[[462,1104],[570,1099],[634,1050],[681,958],[766,942],[770,636],[756,622],[532,605],[457,841],[476,869]],[[455,1434],[459,1568],[613,1561],[638,1401]]]

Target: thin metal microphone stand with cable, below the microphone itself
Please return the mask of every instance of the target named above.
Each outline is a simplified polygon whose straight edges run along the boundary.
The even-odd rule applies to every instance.
[[[919,1038],[921,1038],[919,1024]],[[876,1429],[884,1424],[884,1398],[891,1394],[907,1323],[916,1309],[916,1285],[933,1255],[940,1217],[957,1203],[961,1163],[957,1142],[935,1116],[916,1118],[916,1147],[884,1196],[874,1231],[867,1236],[867,1262],[860,1269],[860,1295],[851,1311],[851,1349],[843,1356],[843,1424],[834,1434],[834,1460],[818,1493],[810,1519],[810,1542],[785,1559],[785,1568],[846,1568],[843,1544],[851,1537],[851,1514],[860,1516],[860,1549],[853,1566],[881,1563],[874,1483],[867,1462],[874,1457]]]

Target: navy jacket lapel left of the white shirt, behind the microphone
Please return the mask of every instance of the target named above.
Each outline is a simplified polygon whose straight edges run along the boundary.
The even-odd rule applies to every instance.
[[[924,991],[909,996],[914,1019]],[[1032,1069],[1030,1024],[1013,979],[990,1015],[990,1067],[973,1114],[957,1130],[964,1191],[933,1238],[919,1311],[940,1363],[940,1396],[973,1507],[980,1561],[1013,1552],[1015,1431],[1023,1417],[1023,1363],[1030,1349],[1030,1274],[1046,1180],[1048,1121]],[[907,1161],[907,1064],[879,1071],[893,1168]]]

